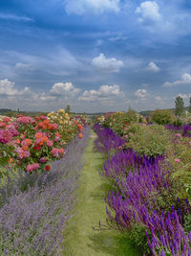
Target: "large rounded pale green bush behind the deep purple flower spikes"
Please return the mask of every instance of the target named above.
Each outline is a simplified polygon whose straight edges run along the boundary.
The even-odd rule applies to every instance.
[[[159,125],[134,125],[127,130],[126,137],[128,148],[155,157],[167,150],[169,131]]]

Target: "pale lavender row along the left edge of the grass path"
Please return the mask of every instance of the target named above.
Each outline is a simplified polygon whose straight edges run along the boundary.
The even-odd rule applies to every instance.
[[[25,174],[14,180],[14,186],[11,180],[10,186],[2,188],[1,255],[62,255],[63,229],[71,218],[89,133],[90,128],[85,128],[83,138],[71,142],[50,173],[30,175],[32,182]]]

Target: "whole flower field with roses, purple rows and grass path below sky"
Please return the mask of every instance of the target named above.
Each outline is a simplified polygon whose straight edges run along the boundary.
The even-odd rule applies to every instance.
[[[190,121],[1,116],[1,255],[191,255]]]

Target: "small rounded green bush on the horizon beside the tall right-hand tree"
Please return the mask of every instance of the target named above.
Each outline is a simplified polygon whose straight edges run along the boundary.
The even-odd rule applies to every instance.
[[[158,125],[167,125],[172,123],[174,120],[173,113],[171,110],[168,109],[156,109],[155,112],[152,114],[152,122]]]

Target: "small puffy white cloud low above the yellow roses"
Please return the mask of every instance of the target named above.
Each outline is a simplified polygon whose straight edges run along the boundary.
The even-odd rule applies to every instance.
[[[50,90],[53,95],[74,96],[79,93],[80,89],[75,88],[72,82],[56,82]]]

